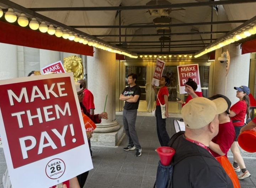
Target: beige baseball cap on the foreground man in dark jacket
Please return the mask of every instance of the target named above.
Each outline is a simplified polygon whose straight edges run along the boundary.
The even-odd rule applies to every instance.
[[[199,129],[208,125],[217,114],[225,112],[226,109],[228,104],[223,98],[209,100],[197,97],[183,106],[182,118],[187,128]]]

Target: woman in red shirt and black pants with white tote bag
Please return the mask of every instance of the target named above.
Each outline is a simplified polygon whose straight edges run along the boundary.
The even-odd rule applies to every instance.
[[[155,85],[152,88],[155,90],[155,94],[157,96],[156,99],[156,130],[158,134],[158,139],[161,146],[167,146],[170,140],[170,137],[166,131],[166,118],[169,117],[168,114],[168,89],[166,85],[170,83],[170,79],[167,76],[162,76],[159,81],[160,89],[156,90]],[[162,118],[161,106],[165,104],[165,117]]]

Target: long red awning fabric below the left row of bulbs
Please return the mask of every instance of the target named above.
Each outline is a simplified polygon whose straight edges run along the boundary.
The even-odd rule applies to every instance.
[[[93,56],[93,47],[0,21],[0,43]]]

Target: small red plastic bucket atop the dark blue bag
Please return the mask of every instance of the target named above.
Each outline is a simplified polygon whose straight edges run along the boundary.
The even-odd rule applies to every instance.
[[[163,146],[163,147],[159,147],[158,149],[156,149],[156,151],[159,155],[162,165],[168,166],[171,164],[172,157],[175,154],[175,149]]]

